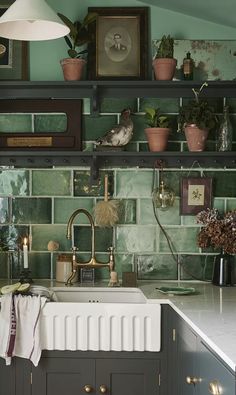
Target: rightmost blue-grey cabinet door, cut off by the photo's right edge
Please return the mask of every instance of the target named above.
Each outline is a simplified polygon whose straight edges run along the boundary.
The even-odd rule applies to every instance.
[[[199,395],[217,394],[217,389],[219,394],[235,394],[234,374],[202,342],[199,344],[198,364],[201,377]]]

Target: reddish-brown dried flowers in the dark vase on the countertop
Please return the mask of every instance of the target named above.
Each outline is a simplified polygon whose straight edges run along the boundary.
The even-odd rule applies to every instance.
[[[204,225],[198,234],[199,247],[212,246],[236,254],[236,210],[220,214],[217,209],[207,209],[196,218],[197,223]]]

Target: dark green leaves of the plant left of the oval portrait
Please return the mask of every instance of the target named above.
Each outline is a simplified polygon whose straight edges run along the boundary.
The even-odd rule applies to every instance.
[[[60,14],[59,12],[58,16],[70,29],[70,33],[68,34],[68,36],[64,37],[66,44],[69,47],[68,55],[70,56],[70,58],[82,58],[83,55],[88,52],[88,50],[83,49],[81,51],[77,51],[76,48],[82,47],[85,44],[93,41],[94,37],[89,31],[88,27],[96,20],[97,14],[95,12],[88,13],[82,22],[78,20],[72,22],[69,18],[67,18],[63,14]]]

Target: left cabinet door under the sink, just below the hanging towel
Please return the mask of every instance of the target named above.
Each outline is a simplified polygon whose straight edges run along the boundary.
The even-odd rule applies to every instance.
[[[95,390],[95,361],[42,357],[32,368],[32,395],[79,395]]]

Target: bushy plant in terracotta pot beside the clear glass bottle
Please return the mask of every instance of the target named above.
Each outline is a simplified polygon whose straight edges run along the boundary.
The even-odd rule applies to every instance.
[[[207,100],[199,98],[205,86],[208,86],[206,82],[199,90],[192,89],[194,100],[189,101],[179,111],[178,131],[185,132],[189,151],[203,151],[209,130],[218,123],[213,106]]]

